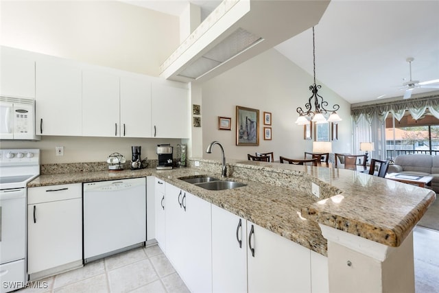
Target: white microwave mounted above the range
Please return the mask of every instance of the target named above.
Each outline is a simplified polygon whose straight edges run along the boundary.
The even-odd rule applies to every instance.
[[[34,99],[0,97],[0,139],[40,139],[35,135]]]

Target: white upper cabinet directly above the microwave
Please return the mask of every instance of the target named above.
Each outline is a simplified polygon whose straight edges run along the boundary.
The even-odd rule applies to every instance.
[[[19,49],[1,47],[0,95],[35,98],[35,61]]]

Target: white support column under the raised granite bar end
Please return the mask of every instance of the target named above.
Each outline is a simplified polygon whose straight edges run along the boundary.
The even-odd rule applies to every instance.
[[[328,240],[329,292],[414,292],[412,232],[390,247],[319,226]]]

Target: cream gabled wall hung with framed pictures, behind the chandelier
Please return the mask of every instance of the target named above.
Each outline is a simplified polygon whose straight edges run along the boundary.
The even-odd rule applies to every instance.
[[[309,60],[312,62],[312,60]],[[289,61],[275,49],[270,49],[222,75],[202,84],[202,143],[203,149],[217,140],[224,146],[226,157],[247,159],[254,152],[274,152],[278,156],[300,159],[303,152],[312,151],[312,141],[303,139],[303,126],[294,123],[296,108],[305,108],[313,77]],[[318,83],[319,84],[319,83]],[[329,106],[340,104],[337,112],[343,121],[338,126],[338,141],[333,152],[352,152],[351,106],[342,97],[322,84],[319,94]],[[235,145],[235,107],[259,109],[259,146]],[[263,112],[272,113],[272,140],[263,140]],[[217,117],[231,117],[232,130],[217,130]],[[203,154],[204,158],[220,158],[220,152]]]

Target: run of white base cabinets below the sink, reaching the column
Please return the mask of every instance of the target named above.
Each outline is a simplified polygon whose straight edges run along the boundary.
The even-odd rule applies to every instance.
[[[165,254],[191,292],[329,292],[327,257],[173,185],[165,190]]]

